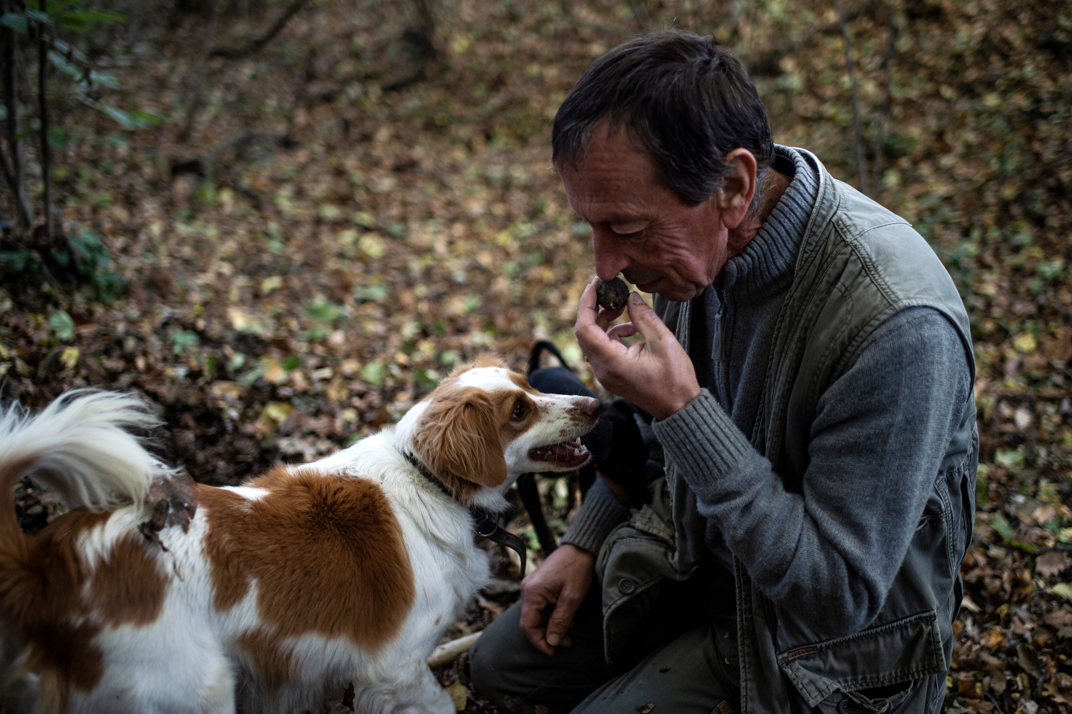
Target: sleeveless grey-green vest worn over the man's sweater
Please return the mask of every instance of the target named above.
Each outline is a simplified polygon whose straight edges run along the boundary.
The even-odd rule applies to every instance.
[[[904,220],[821,166],[819,174],[772,343],[759,428],[750,435],[754,449],[794,493],[805,490],[820,397],[885,318],[913,306],[937,310],[956,327],[969,359],[971,354],[967,315],[929,247]],[[657,299],[656,310],[687,349],[689,304]],[[668,457],[667,481],[653,504],[635,511],[599,551],[608,659],[654,600],[658,583],[687,578],[703,555],[702,536],[688,535],[702,534],[705,525],[694,489],[684,464],[674,463],[672,450]],[[843,711],[940,708],[961,601],[959,563],[971,534],[977,457],[969,390],[905,559],[877,614],[859,631],[830,637],[791,603],[764,595],[734,563],[743,711],[833,711],[843,700]],[[902,683],[889,700],[859,694]]]

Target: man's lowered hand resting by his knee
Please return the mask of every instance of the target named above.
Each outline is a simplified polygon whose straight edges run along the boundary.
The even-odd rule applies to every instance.
[[[572,644],[566,633],[592,587],[594,565],[592,553],[563,544],[521,581],[521,629],[547,656],[553,656],[556,646]],[[554,612],[546,619],[545,608],[550,604]]]

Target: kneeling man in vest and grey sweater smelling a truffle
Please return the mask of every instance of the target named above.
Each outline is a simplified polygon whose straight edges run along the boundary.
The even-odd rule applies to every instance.
[[[774,145],[710,38],[597,59],[552,146],[598,277],[655,295],[612,327],[590,285],[576,334],[653,417],[666,472],[631,509],[597,481],[474,650],[478,691],[504,712],[938,712],[978,435],[937,257]]]

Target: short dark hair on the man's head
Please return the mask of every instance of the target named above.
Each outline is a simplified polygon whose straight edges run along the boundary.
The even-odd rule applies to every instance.
[[[554,117],[554,165],[576,164],[604,119],[651,151],[662,182],[689,206],[721,188],[733,149],[750,151],[760,173],[774,161],[771,124],[744,64],[694,32],[650,32],[596,59]]]

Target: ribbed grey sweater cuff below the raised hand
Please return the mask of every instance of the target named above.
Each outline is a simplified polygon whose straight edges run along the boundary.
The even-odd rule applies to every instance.
[[[715,492],[712,477],[729,476],[747,459],[758,456],[751,442],[706,389],[652,427],[668,460],[681,470],[689,488],[701,499]]]

